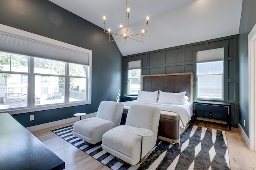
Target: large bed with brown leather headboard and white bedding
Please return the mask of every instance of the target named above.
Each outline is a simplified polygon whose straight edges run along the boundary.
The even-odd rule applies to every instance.
[[[179,146],[180,134],[185,131],[192,117],[192,102],[194,99],[193,82],[194,78],[192,72],[142,75],[142,90],[139,91],[140,94],[138,94],[140,100],[138,100],[138,98],[134,101],[122,102],[124,104],[122,123],[125,123],[126,115],[131,104],[156,106],[161,109],[158,139],[175,143]],[[153,95],[154,93],[155,96],[156,92],[159,93],[156,100],[157,102],[144,102],[141,100],[142,94],[148,93],[149,95]],[[178,95],[178,100],[180,100],[180,94],[182,92],[186,92],[186,97],[184,97],[182,104],[180,104],[180,102],[170,102],[171,104],[165,102],[168,95]],[[163,101],[164,103],[162,103]]]

